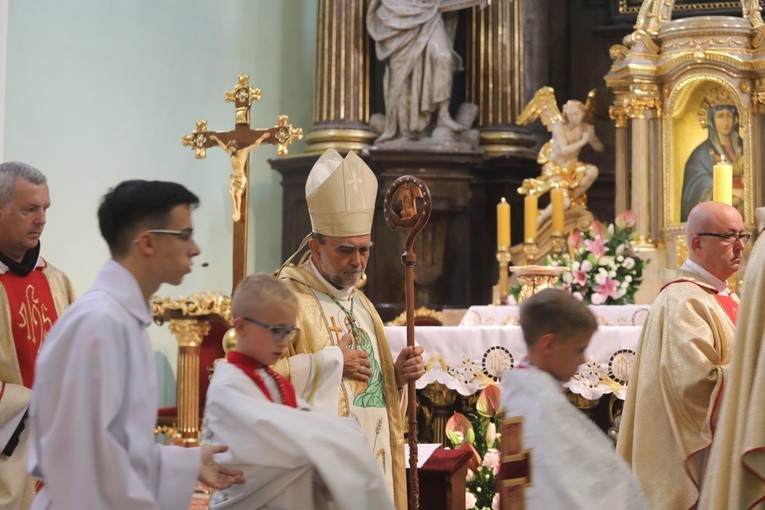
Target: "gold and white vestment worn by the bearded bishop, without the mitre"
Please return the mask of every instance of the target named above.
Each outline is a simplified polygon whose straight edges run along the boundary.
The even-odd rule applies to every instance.
[[[351,416],[360,424],[396,508],[405,510],[401,397],[377,311],[363,293],[338,291],[322,281],[310,260],[300,267],[284,267],[280,277],[298,299],[296,326],[300,333],[290,345],[288,357],[274,368],[290,378],[298,396],[308,403],[325,412]],[[342,353],[334,346],[345,333],[355,338],[355,349],[369,355],[372,375],[367,382],[342,377]]]

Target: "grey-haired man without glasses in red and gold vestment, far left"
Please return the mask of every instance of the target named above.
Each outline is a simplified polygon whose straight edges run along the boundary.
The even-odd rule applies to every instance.
[[[40,345],[74,301],[64,273],[40,256],[48,181],[20,162],[0,164],[0,508],[28,509],[27,408]]]

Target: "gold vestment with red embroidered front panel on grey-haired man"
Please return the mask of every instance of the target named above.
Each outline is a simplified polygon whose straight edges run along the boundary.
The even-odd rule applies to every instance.
[[[40,346],[73,301],[69,279],[44,259],[27,276],[17,276],[0,263],[0,430],[18,426],[32,394]],[[13,452],[0,453],[0,508],[28,508],[34,498],[34,479],[26,469],[28,449],[26,426]]]

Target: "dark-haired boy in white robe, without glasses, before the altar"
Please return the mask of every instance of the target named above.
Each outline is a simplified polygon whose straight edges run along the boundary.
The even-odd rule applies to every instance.
[[[502,406],[505,419],[521,418],[523,448],[531,451],[526,508],[647,509],[627,464],[561,386],[584,363],[598,328],[587,305],[545,289],[523,302],[520,322],[528,360],[502,377]],[[511,439],[506,436],[503,428],[503,444]],[[507,501],[502,505],[509,508]]]

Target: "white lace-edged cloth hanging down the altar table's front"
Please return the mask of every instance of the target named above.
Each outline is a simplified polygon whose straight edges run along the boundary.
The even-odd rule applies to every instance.
[[[640,326],[598,328],[585,351],[587,362],[566,386],[590,400],[609,393],[624,399],[640,330]],[[388,326],[385,332],[395,359],[406,345],[406,327]],[[519,326],[418,327],[415,341],[425,350],[425,375],[417,388],[439,382],[465,396],[498,382],[526,355]]]

